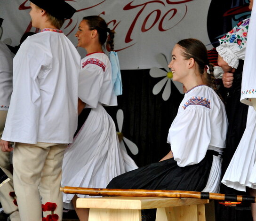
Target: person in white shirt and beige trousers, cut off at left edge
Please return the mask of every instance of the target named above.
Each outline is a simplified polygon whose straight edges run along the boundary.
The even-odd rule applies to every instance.
[[[0,18],[0,27],[3,19]],[[12,94],[12,65],[14,55],[9,48],[0,41],[0,138],[5,126],[8,107]],[[10,152],[0,151],[0,168],[8,175],[10,181],[0,187],[0,203],[4,213],[8,214],[11,221],[20,221],[18,207],[13,203],[13,176],[10,162]]]

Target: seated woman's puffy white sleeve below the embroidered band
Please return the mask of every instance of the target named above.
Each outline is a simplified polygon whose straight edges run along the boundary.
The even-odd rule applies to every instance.
[[[178,112],[168,134],[174,159],[178,166],[199,163],[211,141],[210,109],[189,105]]]

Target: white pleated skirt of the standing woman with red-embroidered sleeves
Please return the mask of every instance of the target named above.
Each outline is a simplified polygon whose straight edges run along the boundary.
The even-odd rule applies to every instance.
[[[65,150],[61,185],[106,188],[112,178],[136,168],[133,159],[120,149],[112,118],[98,104]],[[64,208],[73,208],[73,197],[74,194],[63,194]]]

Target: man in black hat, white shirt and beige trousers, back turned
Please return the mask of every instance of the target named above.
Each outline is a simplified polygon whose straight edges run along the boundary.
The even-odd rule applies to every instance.
[[[80,55],[59,30],[75,9],[64,0],[30,0],[32,26],[14,58],[13,93],[0,142],[13,153],[14,189],[21,221],[41,221],[42,206],[56,204],[62,220],[61,166],[77,127]],[[44,207],[45,208],[45,207]],[[45,211],[46,209],[44,209]]]

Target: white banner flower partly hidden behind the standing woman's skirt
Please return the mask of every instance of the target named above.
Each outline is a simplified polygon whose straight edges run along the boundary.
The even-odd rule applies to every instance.
[[[118,130],[119,130],[119,134],[122,135],[121,131],[123,128],[123,122],[124,122],[124,112],[123,110],[119,109],[116,113],[116,119],[117,119],[117,126],[118,126]],[[136,144],[130,140],[128,140],[126,137],[122,137],[122,140],[120,141],[120,148],[122,150],[124,150],[125,152],[127,152],[124,143],[126,143],[127,147],[129,148],[129,150],[131,151],[131,153],[133,155],[138,154],[139,149],[136,146]]]

